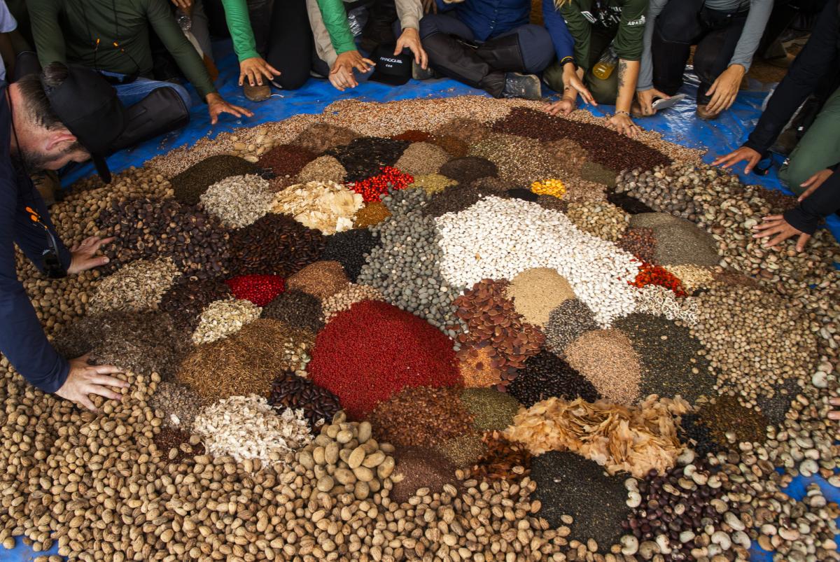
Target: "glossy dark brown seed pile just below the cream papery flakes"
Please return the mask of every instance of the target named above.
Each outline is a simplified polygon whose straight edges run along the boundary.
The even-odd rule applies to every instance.
[[[230,234],[230,272],[288,277],[317,261],[324,244],[317,230],[287,215],[269,213]]]

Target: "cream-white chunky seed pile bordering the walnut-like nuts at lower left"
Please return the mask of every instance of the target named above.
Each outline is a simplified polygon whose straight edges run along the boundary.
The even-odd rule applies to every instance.
[[[196,416],[194,431],[204,448],[235,460],[288,461],[287,454],[312,441],[302,412],[291,409],[280,415],[264,397],[229,397],[205,407]]]

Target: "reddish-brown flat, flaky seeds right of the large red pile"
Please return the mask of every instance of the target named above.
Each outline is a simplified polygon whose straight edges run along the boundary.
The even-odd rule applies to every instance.
[[[458,340],[462,345],[489,344],[501,370],[501,385],[516,378],[525,360],[539,353],[545,337],[536,326],[526,323],[513,302],[505,297],[507,281],[484,279],[454,301],[457,316],[467,324]]]

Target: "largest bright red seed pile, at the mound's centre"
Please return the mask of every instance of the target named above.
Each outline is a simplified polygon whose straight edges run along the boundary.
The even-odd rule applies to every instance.
[[[460,386],[452,340],[422,318],[386,302],[356,302],[318,334],[312,381],[354,417],[406,386]]]

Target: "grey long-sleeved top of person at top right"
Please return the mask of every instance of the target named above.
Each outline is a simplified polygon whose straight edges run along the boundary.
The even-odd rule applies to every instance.
[[[747,22],[743,25],[741,37],[729,65],[741,65],[744,70],[749,70],[753,62],[755,50],[759,48],[759,41],[764,34],[764,26],[773,11],[773,0],[748,0],[749,13]],[[659,13],[668,0],[650,0],[648,6],[648,21],[644,25],[644,51],[642,53],[642,69],[638,75],[638,92],[649,90],[654,87],[654,62],[650,54],[650,45],[654,39],[654,25]],[[706,8],[719,12],[738,12],[746,6],[747,0],[706,0]]]

